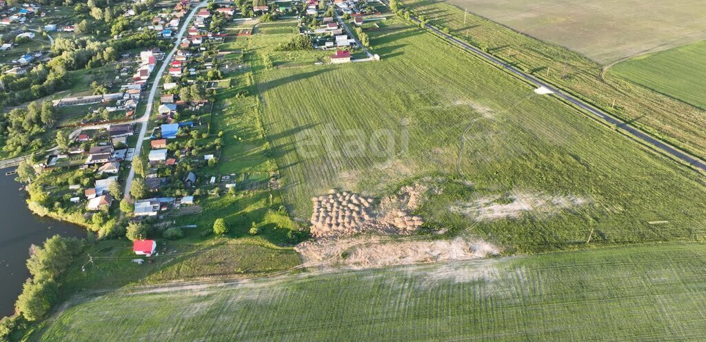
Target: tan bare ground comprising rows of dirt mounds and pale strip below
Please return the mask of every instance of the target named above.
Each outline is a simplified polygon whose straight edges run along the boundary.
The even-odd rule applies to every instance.
[[[478,259],[500,253],[492,244],[462,237],[435,241],[395,237],[409,235],[422,225],[422,218],[412,212],[424,201],[427,192],[438,190],[414,184],[402,187],[378,204],[373,199],[335,189],[328,195],[314,197],[311,235],[316,241],[295,247],[304,260],[303,266],[366,269]]]

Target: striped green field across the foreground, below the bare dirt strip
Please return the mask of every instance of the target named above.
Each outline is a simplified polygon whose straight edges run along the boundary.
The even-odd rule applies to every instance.
[[[30,341],[702,341],[705,260],[660,244],[116,292]]]

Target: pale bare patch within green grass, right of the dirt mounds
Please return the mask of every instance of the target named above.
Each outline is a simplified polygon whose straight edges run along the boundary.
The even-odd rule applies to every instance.
[[[522,213],[553,213],[585,204],[577,196],[552,196],[514,192],[508,196],[489,196],[471,202],[457,202],[451,211],[462,213],[476,221],[517,218]]]

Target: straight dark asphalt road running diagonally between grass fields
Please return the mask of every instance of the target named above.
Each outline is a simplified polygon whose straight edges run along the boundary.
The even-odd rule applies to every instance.
[[[417,18],[411,17],[412,20],[414,20],[417,23],[420,23]],[[603,112],[602,110],[598,110],[597,108],[591,107],[588,105],[586,102],[582,102],[578,98],[574,98],[571,95],[568,95],[566,93],[563,93],[561,90],[558,90],[554,88],[553,86],[550,86],[547,83],[544,83],[540,81],[537,78],[534,78],[534,76],[530,76],[527,73],[524,73],[520,70],[515,69],[513,66],[510,66],[506,64],[505,62],[501,61],[500,59],[497,59],[490,54],[486,54],[485,52],[482,52],[480,49],[477,49],[473,47],[472,45],[467,44],[466,42],[462,42],[461,40],[457,40],[454,37],[451,37],[450,35],[447,35],[441,30],[437,30],[436,28],[433,28],[431,25],[426,25],[426,28],[429,28],[429,30],[432,30],[434,33],[437,35],[440,35],[441,37],[444,37],[446,40],[449,40],[451,42],[454,42],[455,44],[459,45],[463,49],[467,49],[470,52],[473,52],[474,54],[479,55],[480,57],[483,57],[487,61],[490,61],[493,64],[496,64],[498,66],[501,66],[502,68],[510,71],[511,73],[514,73],[516,76],[519,76],[521,78],[524,78],[527,81],[530,81],[534,83],[535,86],[537,87],[545,87],[548,88],[549,90],[553,91],[559,98],[563,98],[564,100],[573,103],[574,105],[582,108],[583,110],[587,110],[591,114],[596,115],[597,117],[603,119],[605,122],[608,122],[609,124],[614,124],[621,129],[624,129],[625,131],[628,131],[630,134],[633,135],[636,139],[642,141],[643,143],[647,144],[648,146],[652,146],[654,149],[658,151],[662,151],[662,153],[666,153],[667,155],[671,155],[672,157],[683,161],[684,163],[687,163],[688,165],[691,165],[695,169],[699,170],[700,172],[706,172],[706,163],[702,160],[699,160],[698,158],[693,157],[692,155],[688,155],[687,153],[684,153],[682,151],[677,150],[673,146],[670,146],[667,143],[664,143],[663,141],[659,141],[656,138],[652,138],[652,136],[649,136],[639,129],[636,129],[633,126],[630,126],[630,124],[623,122],[621,119],[618,119],[616,117],[613,117],[611,114],[608,114],[606,112]]]

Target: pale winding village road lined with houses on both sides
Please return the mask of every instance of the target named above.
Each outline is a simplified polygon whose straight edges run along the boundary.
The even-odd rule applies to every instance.
[[[145,114],[143,114],[140,119],[137,121],[140,122],[140,135],[138,136],[137,139],[137,145],[135,146],[135,154],[133,158],[139,158],[140,157],[140,152],[142,151],[142,142],[145,140],[145,134],[147,134],[147,126],[148,122],[150,120],[150,114],[152,114],[152,103],[155,101],[155,95],[157,94],[157,89],[160,88],[160,81],[162,80],[162,73],[164,73],[164,70],[167,69],[167,65],[169,65],[169,61],[172,59],[172,56],[174,56],[174,53],[177,52],[177,49],[179,49],[179,44],[181,43],[181,37],[184,37],[184,33],[186,33],[187,28],[189,28],[189,24],[191,23],[191,19],[193,19],[193,16],[196,14],[196,12],[199,10],[199,8],[202,8],[208,4],[208,1],[203,1],[200,4],[196,5],[191,9],[191,13],[189,13],[189,16],[187,16],[184,20],[184,25],[181,26],[181,30],[179,30],[179,34],[177,35],[177,40],[174,42],[174,48],[172,49],[169,54],[167,54],[166,57],[164,57],[164,60],[162,61],[162,66],[160,66],[160,70],[157,71],[157,75],[155,76],[155,82],[152,83],[152,89],[150,90],[150,95],[148,95],[147,98],[147,107],[145,107]],[[125,195],[125,198],[130,197],[130,189],[132,187],[132,182],[133,179],[135,179],[135,169],[132,167],[130,168],[130,173],[128,173],[128,177],[125,179],[125,191],[123,192]]]

